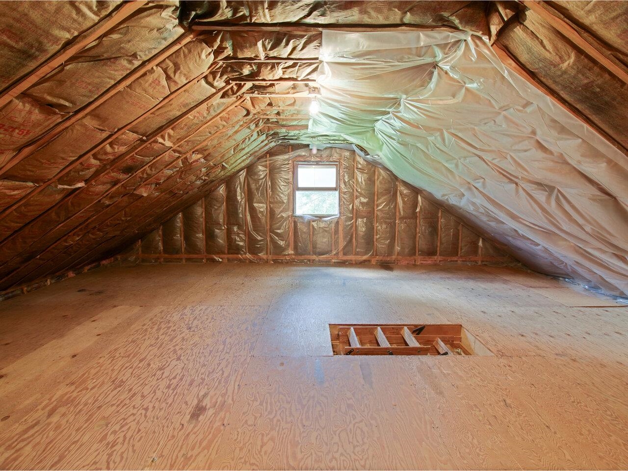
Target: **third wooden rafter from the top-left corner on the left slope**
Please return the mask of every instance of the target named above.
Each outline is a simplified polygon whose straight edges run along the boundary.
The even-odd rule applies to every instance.
[[[53,176],[52,178],[49,178],[44,183],[41,183],[41,185],[38,185],[37,187],[33,188],[33,190],[31,190],[31,192],[26,193],[26,195],[24,195],[23,197],[19,198],[19,200],[17,200],[16,202],[12,203],[8,207],[4,208],[0,212],[0,218],[4,217],[9,212],[13,211],[14,208],[18,207],[19,205],[22,205],[28,199],[32,198],[33,196],[35,196],[38,193],[40,193],[41,191],[43,191],[46,187],[48,187],[48,185],[51,185],[51,183],[54,183],[55,181],[57,181],[60,178],[62,178],[64,175],[67,175],[67,173],[72,171],[74,168],[77,168],[77,166],[79,166],[82,163],[84,163],[85,161],[89,160],[89,158],[93,154],[95,154],[97,151],[99,151],[100,149],[102,149],[105,146],[107,146],[107,144],[109,144],[112,141],[114,141],[114,139],[116,139],[119,136],[121,136],[122,134],[124,134],[128,129],[133,127],[139,121],[142,121],[145,117],[149,116],[151,113],[157,111],[161,107],[166,106],[166,104],[170,103],[171,100],[175,99],[176,97],[178,97],[178,95],[180,95],[183,92],[185,92],[185,90],[187,90],[188,88],[190,88],[193,85],[197,84],[200,80],[202,80],[202,78],[204,78],[206,75],[208,75],[208,73],[210,73],[213,70],[215,70],[217,68],[217,66],[218,66],[217,63],[212,65],[212,67],[209,67],[205,72],[201,73],[200,75],[197,75],[197,77],[195,77],[192,80],[190,80],[190,82],[187,82],[186,84],[181,85],[181,87],[179,87],[174,92],[172,92],[170,95],[166,96],[164,99],[159,101],[151,109],[149,109],[148,111],[142,113],[140,116],[136,117],[136,119],[134,119],[133,121],[129,122],[125,126],[122,126],[115,133],[112,133],[109,136],[107,136],[107,138],[105,138],[102,141],[100,141],[100,143],[96,144],[94,147],[89,149],[89,151],[87,151],[86,153],[78,156],[78,158],[76,160],[72,161],[72,163],[66,165],[62,170],[58,171],[58,173],[55,176]],[[230,85],[227,85],[227,86],[223,87],[222,89],[220,89],[219,92],[222,93],[225,90],[229,89],[229,87],[230,87]],[[216,92],[216,94],[218,94],[219,92]]]

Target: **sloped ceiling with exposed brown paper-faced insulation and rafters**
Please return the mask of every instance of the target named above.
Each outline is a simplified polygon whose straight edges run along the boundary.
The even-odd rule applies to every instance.
[[[602,261],[595,273],[543,268],[625,294],[627,236],[617,228],[627,195],[603,181],[627,166],[627,9],[623,2],[1,3],[0,289],[116,252],[275,144],[353,141],[308,131],[322,28],[447,28],[487,38],[502,60],[619,150],[613,168],[590,155],[572,164],[595,173],[596,191],[614,199],[615,219],[587,226],[595,240],[583,248]],[[528,170],[534,178],[534,166]],[[468,210],[464,198],[444,203]],[[555,217],[552,205],[544,210]],[[499,205],[492,211],[499,215]],[[512,242],[504,228],[487,230]],[[557,237],[554,226],[539,230]],[[532,263],[548,253],[546,241],[538,237],[536,250],[515,244],[512,253]],[[547,243],[553,255],[577,244],[563,241]]]

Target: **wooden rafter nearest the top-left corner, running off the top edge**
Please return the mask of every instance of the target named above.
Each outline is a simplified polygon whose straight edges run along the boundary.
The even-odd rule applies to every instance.
[[[145,4],[146,0],[131,1],[122,4],[122,6],[120,6],[120,8],[113,13],[109,13],[104,19],[101,19],[99,23],[97,23],[92,30],[89,31],[89,33],[87,33],[87,35],[77,36],[75,40],[70,43],[70,45],[65,46],[65,48],[53,55],[53,57],[36,67],[35,70],[26,75],[26,77],[21,78],[18,82],[4,90],[3,94],[0,95],[0,108],[6,105],[14,97],[24,92],[24,90],[27,90],[35,85],[38,80],[48,75],[48,73],[52,72],[55,68],[62,65],[63,62],[68,60],[77,52],[90,45],[90,43],[94,40],[122,23],[122,21],[138,11],[138,9],[142,8]]]

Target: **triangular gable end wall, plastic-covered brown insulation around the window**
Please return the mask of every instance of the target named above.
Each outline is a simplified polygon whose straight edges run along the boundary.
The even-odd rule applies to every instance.
[[[303,161],[338,164],[338,216],[295,215],[294,166]],[[276,146],[144,236],[139,257],[197,263],[514,263],[416,188],[354,151],[287,146]]]

